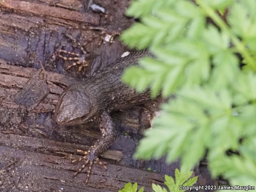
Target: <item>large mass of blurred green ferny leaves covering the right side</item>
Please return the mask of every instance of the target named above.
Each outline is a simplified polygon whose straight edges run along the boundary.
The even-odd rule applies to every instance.
[[[131,48],[149,47],[154,58],[141,59],[122,80],[138,92],[149,87],[153,98],[175,94],[145,132],[136,158],[167,154],[168,163],[180,158],[191,169],[207,150],[213,177],[255,185],[255,10],[255,0],[132,2],[126,14],[140,22],[121,39]]]

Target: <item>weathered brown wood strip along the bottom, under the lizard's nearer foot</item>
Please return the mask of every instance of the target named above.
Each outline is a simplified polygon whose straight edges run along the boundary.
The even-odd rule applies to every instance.
[[[15,141],[14,141],[15,142]],[[83,173],[73,177],[77,164],[59,156],[30,152],[9,147],[0,147],[2,157],[1,182],[8,186],[8,181],[16,182],[17,188],[31,191],[42,191],[63,188],[65,191],[117,191],[124,186],[125,182],[138,182],[144,186],[145,191],[150,191],[151,182],[161,184],[163,175],[134,170],[129,167],[108,164],[108,170],[94,166],[92,175],[87,186],[84,183],[86,174]],[[8,157],[12,157],[12,160]],[[12,179],[10,179],[12,177]],[[6,179],[9,178],[9,179]],[[13,180],[15,178],[16,181]],[[20,182],[17,182],[20,180]],[[40,187],[39,187],[40,185]],[[67,190],[72,188],[72,190]],[[80,190],[79,190],[80,189]]]

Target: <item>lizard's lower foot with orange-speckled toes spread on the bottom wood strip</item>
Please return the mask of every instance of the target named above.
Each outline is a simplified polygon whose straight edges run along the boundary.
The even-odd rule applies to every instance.
[[[76,172],[75,172],[75,176],[80,173],[86,165],[88,165],[88,173],[87,173],[87,178],[85,180],[85,183],[87,184],[90,178],[90,174],[91,174],[91,170],[92,170],[92,165],[93,164],[99,164],[101,165],[104,169],[107,169],[106,165],[104,165],[98,156],[94,155],[93,153],[91,153],[91,150],[88,151],[83,151],[83,150],[77,150],[76,152],[83,154],[84,157],[80,158],[79,161],[83,161],[84,164],[81,166],[81,168],[79,168]],[[76,160],[73,160],[72,162],[75,162]]]

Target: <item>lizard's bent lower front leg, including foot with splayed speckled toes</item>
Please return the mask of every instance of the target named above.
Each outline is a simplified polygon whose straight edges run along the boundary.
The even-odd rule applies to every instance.
[[[98,156],[105,151],[116,138],[115,125],[107,112],[101,114],[99,127],[102,133],[100,139],[98,139],[88,151],[77,150],[77,152],[84,154],[84,164],[75,172],[75,175],[81,172],[88,164],[88,174],[85,183],[88,183],[93,163],[100,164],[107,169],[107,167],[99,160]]]

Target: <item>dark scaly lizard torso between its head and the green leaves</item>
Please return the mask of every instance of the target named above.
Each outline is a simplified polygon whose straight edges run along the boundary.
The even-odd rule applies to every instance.
[[[149,90],[139,93],[121,82],[124,70],[132,65],[138,65],[138,60],[148,55],[148,50],[132,52],[116,60],[97,75],[84,79],[81,84],[86,86],[91,97],[98,98],[103,108],[110,110],[128,108],[150,100]]]

